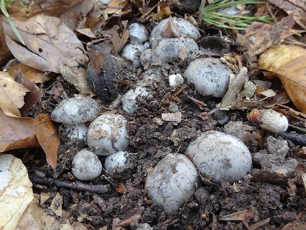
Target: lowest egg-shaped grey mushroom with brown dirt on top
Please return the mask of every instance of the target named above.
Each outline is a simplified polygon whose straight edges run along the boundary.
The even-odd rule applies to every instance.
[[[199,186],[200,178],[190,159],[169,153],[148,174],[145,188],[149,199],[168,214],[177,215]]]

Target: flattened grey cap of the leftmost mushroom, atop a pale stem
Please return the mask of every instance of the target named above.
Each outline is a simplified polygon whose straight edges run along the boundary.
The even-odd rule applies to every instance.
[[[73,97],[61,101],[51,113],[51,119],[63,124],[79,124],[94,120],[99,113],[99,105],[92,98]]]

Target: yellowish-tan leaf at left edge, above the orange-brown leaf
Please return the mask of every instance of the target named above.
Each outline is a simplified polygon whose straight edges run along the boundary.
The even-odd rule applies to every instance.
[[[14,81],[8,73],[0,72],[0,107],[16,116],[23,107],[24,96],[30,92],[28,88]]]

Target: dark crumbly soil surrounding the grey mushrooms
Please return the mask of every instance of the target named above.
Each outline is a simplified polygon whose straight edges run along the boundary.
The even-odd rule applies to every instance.
[[[175,7],[181,9],[179,5]],[[269,218],[266,224],[258,228],[259,230],[282,229],[292,221],[303,223],[306,219],[306,192],[301,179],[301,174],[306,172],[303,140],[301,142],[292,138],[289,140],[285,135],[275,136],[260,130],[247,120],[246,114],[249,111],[226,112],[230,120],[225,125],[217,122],[219,117],[216,114],[197,116],[215,109],[220,99],[203,97],[186,85],[176,88],[167,86],[167,77],[170,74],[184,72],[190,61],[177,60],[159,66],[164,74],[163,80],[156,81],[150,86],[153,97],[138,98],[138,109],[134,113],[124,112],[120,105],[112,111],[125,116],[128,120],[130,134],[128,152],[134,153],[127,162],[130,170],[128,179],[120,179],[123,172],[114,170],[103,172],[93,181],[77,183],[71,172],[73,156],[78,150],[87,146],[69,140],[60,126],[61,145],[57,171],[53,172],[51,167],[45,166],[45,159],[41,158],[44,153],[39,148],[34,150],[33,159],[29,159],[26,163],[30,179],[34,184],[34,192],[38,194],[47,192],[51,195],[50,200],[59,192],[63,197],[62,208],[66,211],[66,217],[70,216],[71,222],[78,221],[96,230],[103,227],[146,229],[138,227],[140,223],[148,223],[155,230],[245,230],[247,227],[241,219],[219,220],[225,215],[244,210],[253,212],[253,217],[246,218],[248,222],[245,223],[249,226]],[[122,65],[121,68],[124,75],[136,78],[141,77],[144,72],[141,69],[126,68]],[[89,71],[94,72],[94,68],[90,67]],[[135,79],[127,76],[121,76],[123,78],[121,80],[129,81],[128,85],[121,87],[122,91],[134,87]],[[104,80],[107,85],[108,79]],[[69,97],[78,93],[61,77],[47,84],[57,84],[57,88],[58,85],[62,85],[66,92],[69,91]],[[109,90],[112,87],[110,84],[107,86]],[[44,85],[44,90],[48,90],[48,85]],[[115,92],[114,88],[111,90],[100,93],[101,95],[110,93],[108,99],[113,99],[116,94],[121,93]],[[42,100],[45,104],[43,110],[50,114],[64,97],[45,95],[47,96]],[[191,98],[207,106],[201,108]],[[101,102],[102,112],[110,112],[107,108],[110,108],[112,103],[112,100]],[[38,113],[42,110],[41,107],[36,109]],[[181,122],[161,119],[161,114],[175,112],[182,113]],[[33,112],[33,116],[34,114]],[[147,198],[144,190],[146,177],[166,154],[184,153],[189,141],[207,130],[218,130],[240,138],[252,153],[252,170],[243,180],[234,184],[227,182],[215,184],[209,178],[202,177],[202,185],[186,202],[180,214],[168,215],[160,206]],[[289,131],[294,130],[287,132]],[[103,162],[105,157],[100,156],[100,159]],[[43,207],[47,210],[49,205],[50,202],[46,202]],[[52,213],[50,209],[49,212]],[[114,224],[117,222],[120,224]],[[253,228],[255,229],[254,226]]]

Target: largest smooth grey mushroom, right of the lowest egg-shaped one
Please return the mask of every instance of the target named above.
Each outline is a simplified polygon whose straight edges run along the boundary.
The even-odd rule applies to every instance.
[[[241,180],[252,167],[248,147],[238,138],[206,131],[190,142],[185,155],[206,178],[229,183]]]

